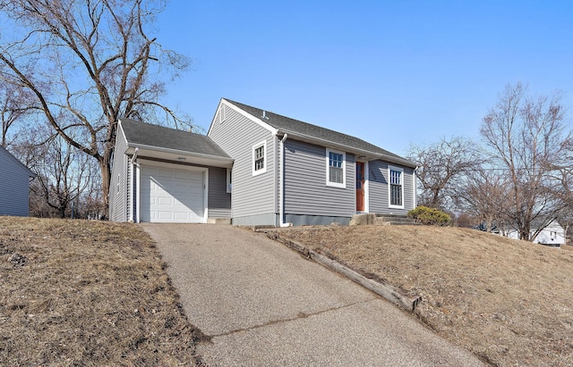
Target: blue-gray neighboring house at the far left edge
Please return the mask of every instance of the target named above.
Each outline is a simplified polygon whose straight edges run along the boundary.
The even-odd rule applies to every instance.
[[[36,174],[0,146],[0,215],[28,216],[30,178]]]

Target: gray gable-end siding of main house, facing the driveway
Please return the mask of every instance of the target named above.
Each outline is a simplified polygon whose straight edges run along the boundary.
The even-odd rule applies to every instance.
[[[225,121],[220,122],[218,113],[216,114],[209,137],[235,160],[231,194],[233,223],[239,223],[240,218],[247,221],[248,217],[274,218],[277,210],[274,172],[276,154],[273,135],[269,129],[264,129],[230,107],[226,107],[225,117]],[[267,144],[265,157],[267,171],[253,176],[252,146],[263,141]],[[275,222],[273,220],[272,223],[259,224],[275,224]]]

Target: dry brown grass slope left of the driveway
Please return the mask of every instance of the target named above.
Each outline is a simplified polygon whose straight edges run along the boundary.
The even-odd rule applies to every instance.
[[[200,338],[137,226],[0,218],[0,365],[201,365]]]

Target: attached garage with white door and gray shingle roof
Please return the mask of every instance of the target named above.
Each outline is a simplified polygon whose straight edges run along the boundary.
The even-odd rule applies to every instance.
[[[234,161],[211,138],[130,119],[117,126],[111,221],[230,221]]]

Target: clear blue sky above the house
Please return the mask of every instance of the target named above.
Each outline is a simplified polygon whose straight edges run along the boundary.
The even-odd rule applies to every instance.
[[[573,105],[569,1],[174,0],[157,26],[193,61],[165,101],[205,131],[226,97],[406,154],[479,138],[508,83]]]

